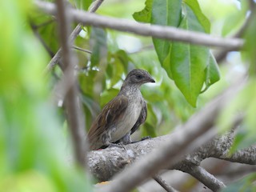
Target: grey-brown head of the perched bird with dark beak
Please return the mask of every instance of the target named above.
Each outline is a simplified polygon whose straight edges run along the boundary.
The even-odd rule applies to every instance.
[[[127,74],[122,86],[141,86],[146,82],[155,82],[146,70],[135,69]]]

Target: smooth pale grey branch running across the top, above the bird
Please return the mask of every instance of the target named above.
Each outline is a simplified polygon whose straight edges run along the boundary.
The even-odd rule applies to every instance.
[[[55,14],[55,6],[52,3],[36,2],[36,5],[48,14]],[[244,44],[243,40],[238,38],[219,38],[209,34],[180,30],[170,26],[147,25],[126,19],[103,17],[82,10],[71,9],[70,14],[77,22],[81,22],[84,25],[110,28],[143,36],[152,36],[154,38],[164,38],[202,46],[217,46],[231,50],[240,49]]]

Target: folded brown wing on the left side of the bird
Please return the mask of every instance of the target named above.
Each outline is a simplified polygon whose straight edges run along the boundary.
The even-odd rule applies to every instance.
[[[94,142],[94,139],[97,139],[111,123],[115,122],[115,119],[120,118],[127,106],[128,98],[124,95],[118,95],[108,102],[90,127],[88,132],[89,142]]]

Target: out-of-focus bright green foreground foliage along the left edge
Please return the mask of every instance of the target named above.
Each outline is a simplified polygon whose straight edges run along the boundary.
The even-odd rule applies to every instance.
[[[0,191],[90,191],[85,174],[65,160],[67,141],[46,102],[46,52],[24,25],[31,5],[0,2]]]

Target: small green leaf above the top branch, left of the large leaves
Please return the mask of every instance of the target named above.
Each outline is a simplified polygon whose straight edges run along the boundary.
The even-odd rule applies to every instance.
[[[133,14],[133,17],[137,22],[150,22],[152,1],[153,0],[146,0],[145,8]]]

